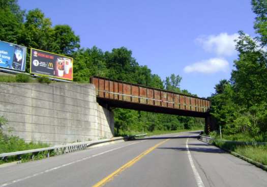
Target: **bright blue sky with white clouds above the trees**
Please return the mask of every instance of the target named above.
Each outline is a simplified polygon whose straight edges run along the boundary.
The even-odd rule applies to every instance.
[[[210,96],[229,78],[237,58],[239,30],[255,36],[248,0],[19,0],[22,9],[41,9],[53,24],[69,24],[82,47],[125,46],[140,65],[163,79],[180,74],[182,89]]]

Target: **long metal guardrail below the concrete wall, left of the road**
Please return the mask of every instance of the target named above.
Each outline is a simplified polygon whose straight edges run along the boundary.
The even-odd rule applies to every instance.
[[[36,154],[42,151],[48,151],[47,157],[49,157],[49,154],[51,151],[54,151],[54,153],[57,154],[65,154],[69,152],[79,151],[82,149],[86,149],[89,146],[105,143],[105,142],[112,142],[116,140],[123,140],[123,137],[116,137],[111,139],[103,139],[103,140],[95,140],[95,141],[87,141],[87,142],[78,142],[73,144],[66,144],[66,145],[59,145],[59,146],[53,146],[53,147],[45,147],[40,149],[31,149],[31,150],[25,150],[25,151],[16,151],[16,152],[8,152],[8,153],[1,153],[0,158],[2,158],[4,161],[8,159],[8,156],[17,156],[19,160],[21,160],[21,155],[32,153],[31,158],[33,159]]]

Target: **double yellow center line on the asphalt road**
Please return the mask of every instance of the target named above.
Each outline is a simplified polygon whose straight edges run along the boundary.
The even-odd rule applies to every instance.
[[[153,146],[153,147],[145,150],[144,152],[142,152],[141,154],[139,154],[138,156],[136,156],[134,159],[132,159],[131,161],[129,161],[128,163],[126,163],[125,165],[123,165],[121,168],[118,168],[116,171],[114,171],[113,173],[111,173],[107,177],[105,177],[102,180],[100,180],[98,183],[96,183],[95,185],[93,185],[93,187],[100,187],[100,186],[105,185],[108,181],[112,180],[116,175],[122,173],[124,170],[126,170],[129,167],[131,167],[134,163],[136,163],[137,161],[139,161],[143,156],[145,156],[146,154],[149,154],[151,151],[153,151],[154,149],[156,149],[161,144],[167,142],[168,140],[170,140],[170,139],[164,140],[164,141],[156,144],[155,146]]]

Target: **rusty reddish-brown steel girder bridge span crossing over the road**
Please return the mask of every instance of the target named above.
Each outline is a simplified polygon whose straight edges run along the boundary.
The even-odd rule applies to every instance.
[[[105,106],[163,114],[205,118],[205,131],[214,129],[210,117],[209,99],[115,81],[98,76],[91,77],[96,87],[97,101]]]

